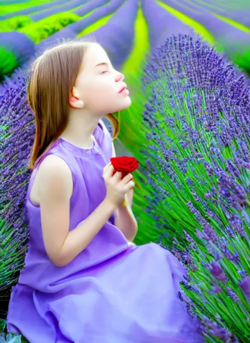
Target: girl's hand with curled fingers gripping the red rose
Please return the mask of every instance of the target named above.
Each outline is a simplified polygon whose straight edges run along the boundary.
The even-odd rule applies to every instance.
[[[135,183],[132,181],[131,173],[122,179],[122,173],[114,171],[114,167],[109,163],[104,167],[103,178],[107,190],[105,199],[117,207],[123,201],[126,192],[135,187]]]

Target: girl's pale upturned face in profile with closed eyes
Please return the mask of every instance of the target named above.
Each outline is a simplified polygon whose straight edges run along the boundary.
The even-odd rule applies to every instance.
[[[122,111],[131,105],[124,75],[112,67],[98,44],[87,47],[73,93],[83,101],[83,109],[97,115]]]

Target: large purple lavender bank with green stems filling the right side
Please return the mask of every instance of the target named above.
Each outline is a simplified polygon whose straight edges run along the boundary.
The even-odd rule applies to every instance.
[[[250,342],[250,83],[198,36],[148,60],[147,211],[207,342]],[[152,199],[153,196],[153,199]]]

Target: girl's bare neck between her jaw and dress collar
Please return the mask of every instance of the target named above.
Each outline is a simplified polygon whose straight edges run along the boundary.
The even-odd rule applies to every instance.
[[[93,145],[91,136],[99,120],[100,117],[93,114],[73,110],[61,137],[81,148],[91,148]]]

